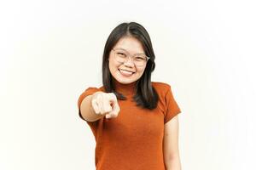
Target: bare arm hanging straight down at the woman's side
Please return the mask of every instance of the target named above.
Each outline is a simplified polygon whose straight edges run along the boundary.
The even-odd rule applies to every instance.
[[[174,116],[165,124],[164,161],[166,170],[181,170],[178,150],[178,119]]]

